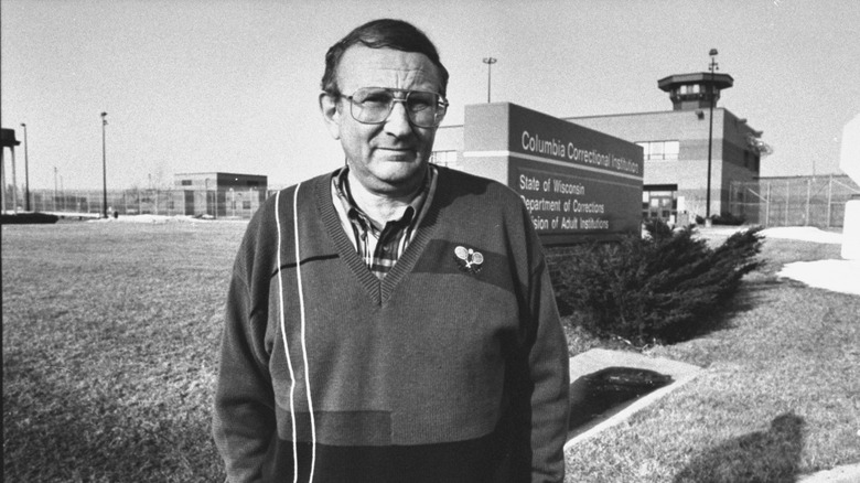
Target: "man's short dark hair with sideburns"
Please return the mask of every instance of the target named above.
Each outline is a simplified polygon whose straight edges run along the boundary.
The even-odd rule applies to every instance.
[[[448,69],[439,60],[439,53],[430,39],[409,22],[394,19],[379,19],[361,25],[346,34],[340,42],[332,45],[325,54],[325,73],[322,78],[323,92],[340,95],[337,86],[337,67],[344,52],[353,45],[362,44],[370,49],[395,49],[402,52],[415,52],[427,55],[439,69],[442,80],[441,95],[448,88]]]

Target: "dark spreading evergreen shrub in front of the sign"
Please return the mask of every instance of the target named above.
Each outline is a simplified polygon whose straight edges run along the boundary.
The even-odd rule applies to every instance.
[[[690,339],[712,329],[712,315],[762,264],[761,227],[717,249],[691,226],[673,230],[653,221],[645,229],[645,237],[581,246],[553,260],[559,305],[579,312],[583,328],[639,346]]]

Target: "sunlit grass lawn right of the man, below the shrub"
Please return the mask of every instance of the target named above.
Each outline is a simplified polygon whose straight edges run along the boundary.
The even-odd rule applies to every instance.
[[[768,239],[710,334],[647,353],[706,367],[567,454],[568,482],[793,482],[860,461],[860,297],[776,280],[838,245]],[[573,351],[595,345],[579,334]]]

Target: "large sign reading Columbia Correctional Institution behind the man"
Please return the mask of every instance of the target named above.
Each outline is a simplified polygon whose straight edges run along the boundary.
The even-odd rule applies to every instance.
[[[642,148],[504,103],[466,107],[463,168],[523,197],[546,244],[638,233]]]

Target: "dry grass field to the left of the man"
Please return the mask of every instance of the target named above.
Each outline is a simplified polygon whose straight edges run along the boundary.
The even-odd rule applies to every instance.
[[[209,437],[245,224],[3,226],[3,479],[223,480]]]

